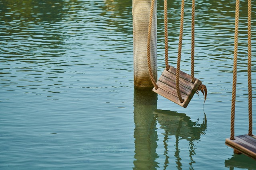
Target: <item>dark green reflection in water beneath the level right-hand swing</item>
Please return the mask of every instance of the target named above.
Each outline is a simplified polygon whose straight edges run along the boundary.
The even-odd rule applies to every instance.
[[[234,170],[234,168],[256,170],[255,163],[254,159],[248,158],[244,154],[234,154],[232,158],[225,160],[225,167],[230,170]]]

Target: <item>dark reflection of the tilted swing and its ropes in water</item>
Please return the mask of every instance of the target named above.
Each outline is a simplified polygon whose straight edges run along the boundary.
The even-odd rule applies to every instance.
[[[192,155],[195,154],[194,150],[194,141],[198,141],[201,135],[204,135],[204,132],[207,128],[207,119],[206,115],[204,117],[204,121],[202,124],[198,124],[197,122],[193,122],[190,120],[184,113],[177,113],[174,111],[164,111],[164,110],[156,110],[153,112],[156,115],[156,120],[161,125],[160,128],[164,129],[164,155],[166,156],[166,160],[164,163],[164,169],[168,166],[168,145],[166,141],[168,140],[168,136],[175,136],[175,156],[176,156],[176,164],[178,169],[182,169],[182,164],[180,162],[180,150],[178,148],[178,143],[180,139],[184,139],[189,141],[189,157],[190,157],[190,166],[195,163]]]

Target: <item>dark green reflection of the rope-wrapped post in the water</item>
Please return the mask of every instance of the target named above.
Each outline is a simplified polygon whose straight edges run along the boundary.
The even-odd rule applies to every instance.
[[[155,170],[158,166],[156,153],[158,140],[156,117],[157,94],[150,90],[134,88],[134,170]]]

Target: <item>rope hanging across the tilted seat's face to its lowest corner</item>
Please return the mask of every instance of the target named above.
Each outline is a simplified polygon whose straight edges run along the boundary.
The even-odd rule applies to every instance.
[[[184,0],[181,1],[181,13],[180,13],[180,37],[179,37],[179,46],[178,46],[178,59],[177,59],[177,68],[176,68],[176,90],[180,103],[184,102],[180,95],[180,60],[181,60],[181,49],[182,49],[182,36],[183,36],[183,22],[184,22]]]

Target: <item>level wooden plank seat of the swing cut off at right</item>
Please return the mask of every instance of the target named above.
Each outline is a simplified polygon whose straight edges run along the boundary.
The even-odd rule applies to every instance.
[[[226,145],[234,149],[235,153],[242,153],[256,160],[256,136],[240,135],[235,140],[226,139]]]

